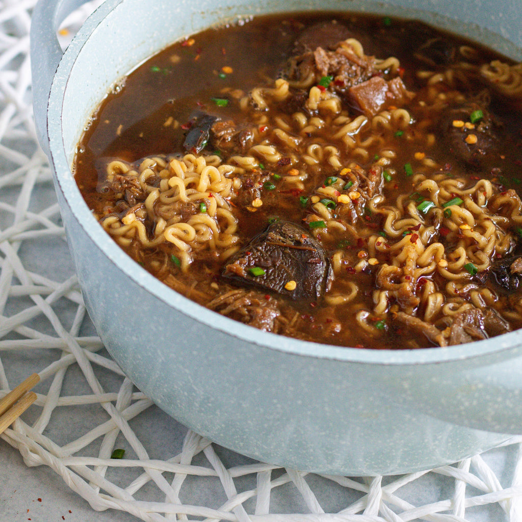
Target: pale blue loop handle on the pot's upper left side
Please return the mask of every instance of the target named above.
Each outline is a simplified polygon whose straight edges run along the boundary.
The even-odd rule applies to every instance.
[[[63,52],[56,32],[65,18],[88,0],[39,0],[31,17],[31,74],[34,125],[49,156],[47,106],[54,73]]]

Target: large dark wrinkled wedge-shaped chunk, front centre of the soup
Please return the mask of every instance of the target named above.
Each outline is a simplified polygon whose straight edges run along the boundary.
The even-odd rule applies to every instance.
[[[319,241],[299,225],[278,221],[232,256],[222,275],[293,300],[315,301],[329,288],[333,271]]]

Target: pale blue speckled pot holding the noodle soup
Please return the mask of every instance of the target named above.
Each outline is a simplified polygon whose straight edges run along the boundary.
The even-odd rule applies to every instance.
[[[223,18],[312,8],[396,14],[521,60],[520,0],[108,0],[62,57],[56,29],[82,3],[41,0],[34,9],[35,119],[89,314],[143,392],[223,446],[327,473],[432,468],[522,433],[522,331],[413,351],[264,333],[185,299],[133,262],[91,216],[71,174],[82,129],[114,82],[170,42]]]

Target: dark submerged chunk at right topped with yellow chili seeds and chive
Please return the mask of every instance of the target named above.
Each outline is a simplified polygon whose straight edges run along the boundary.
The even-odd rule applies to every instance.
[[[472,123],[471,115],[479,114],[478,111],[482,117]],[[456,125],[456,122],[464,122],[464,126]],[[499,153],[496,127],[489,111],[478,103],[449,108],[438,125],[440,137],[449,152],[474,169],[484,168]]]

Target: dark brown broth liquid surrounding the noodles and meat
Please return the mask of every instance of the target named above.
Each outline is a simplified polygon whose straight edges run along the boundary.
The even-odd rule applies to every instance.
[[[385,197],[387,205],[394,205],[401,194],[408,195],[407,201],[415,201],[418,204],[412,183],[413,176],[410,175],[407,168],[405,169],[405,165],[411,165],[415,173],[422,172],[428,177],[443,174],[446,179],[452,179],[452,177],[463,179],[466,181],[467,187],[472,187],[479,179],[486,179],[493,184],[498,193],[508,189],[518,191],[521,136],[518,123],[520,110],[516,104],[520,104],[520,100],[510,100],[509,97],[490,88],[485,82],[477,81],[476,75],[471,75],[469,80],[460,81],[458,88],[448,86],[441,89],[438,96],[441,97],[442,108],[437,108],[433,99],[430,98],[432,95],[428,92],[429,87],[426,86],[425,78],[418,75],[419,70],[431,74],[437,72],[442,74],[447,69],[457,67],[464,60],[460,56],[445,65],[427,65],[423,58],[419,59],[418,56],[412,55],[412,51],[417,49],[417,44],[421,45],[423,41],[436,37],[449,42],[454,49],[462,46],[473,49],[472,58],[468,58],[469,63],[473,66],[478,66],[480,63],[487,64],[493,60],[511,64],[505,57],[456,35],[437,32],[416,21],[388,17],[383,19],[381,16],[348,13],[336,13],[335,15],[331,13],[294,13],[260,16],[241,25],[208,29],[194,35],[191,39],[177,42],[161,51],[122,80],[118,88],[109,93],[100,105],[78,146],[74,167],[75,177],[87,205],[100,219],[107,215],[108,206],[113,205],[114,202],[108,201],[108,196],[102,189],[106,177],[106,164],[111,159],[117,158],[133,163],[151,155],[182,154],[187,133],[186,126],[183,124],[190,120],[191,114],[195,110],[211,111],[212,114],[220,115],[223,119],[232,118],[238,123],[245,122],[248,114],[239,110],[237,100],[230,93],[233,93],[234,90],[248,93],[256,86],[271,86],[278,78],[288,58],[292,56],[294,42],[302,31],[333,18],[339,24],[346,26],[353,37],[361,42],[365,55],[379,58],[393,55],[398,58],[402,81],[408,90],[416,93],[416,97],[404,105],[412,117],[412,124],[407,131],[393,134],[383,132],[388,143],[383,144],[381,141],[369,145],[366,160],[361,160],[360,157],[355,158],[361,168],[367,172],[372,165],[378,162],[379,158],[383,157],[383,151],[394,151],[391,166],[385,165],[383,168],[384,171],[387,169],[393,171],[393,179],[389,182],[382,181],[379,189]],[[459,74],[462,74],[462,68],[458,68],[458,70]],[[218,106],[212,101],[224,96],[223,89],[226,89],[227,97],[230,98],[226,107]],[[483,97],[483,92],[488,91],[488,96],[491,98],[489,111],[493,117],[502,122],[497,131],[500,140],[495,155],[484,161],[480,168],[470,167],[468,164],[456,160],[454,156],[448,156],[447,144],[443,140],[439,140],[433,130],[434,122],[441,117],[441,111],[445,110],[442,101],[445,90],[448,93],[458,90],[462,93],[463,99]],[[426,108],[427,106],[429,108]],[[348,105],[346,110],[350,114],[358,114]],[[177,128],[166,124],[172,118],[180,123]],[[292,132],[296,132],[296,129],[292,129]],[[422,148],[426,143],[423,136],[425,133],[435,135],[435,143],[430,146],[429,150]],[[322,146],[332,144],[338,147],[341,164],[348,164],[354,160],[353,150],[342,150],[339,140],[332,139],[328,129],[325,129],[324,133],[317,133],[314,139]],[[204,150],[201,153],[210,152],[212,151]],[[423,161],[426,156],[433,160],[434,166],[431,170],[429,165],[426,166],[426,162]],[[294,166],[303,167],[303,162]],[[279,172],[278,169],[281,172],[288,170],[284,165],[270,165],[270,171],[276,175]],[[257,208],[256,211],[245,206],[234,207],[235,215],[239,219],[241,245],[246,245],[256,234],[263,231],[270,219],[280,218],[302,223],[303,219],[310,214],[311,209],[310,206],[302,207],[300,205],[299,196],[311,194],[313,188],[325,183],[328,176],[339,177],[340,169],[324,161],[313,168],[308,168],[308,171],[306,189],[303,192],[296,193],[288,187],[281,189],[274,182],[277,188],[273,191],[265,191],[263,206]],[[348,194],[348,192],[349,190],[346,189],[344,193]],[[417,199],[426,198],[426,194],[419,194]],[[118,213],[117,209],[111,210],[113,213]],[[121,210],[120,214],[124,215],[125,210]],[[298,324],[292,335],[340,346],[388,349],[436,346],[433,340],[422,339],[415,329],[394,321],[398,310],[397,302],[399,301],[400,304],[397,296],[390,299],[384,313],[380,315],[375,313],[376,268],[371,264],[364,269],[356,269],[356,267],[361,259],[375,258],[378,262],[377,266],[393,265],[394,259],[391,254],[386,252],[379,252],[374,257],[370,257],[368,253],[367,245],[370,236],[384,228],[384,215],[372,213],[369,211],[369,207],[366,207],[360,221],[357,224],[359,227],[357,235],[348,232],[325,235],[320,232],[315,233],[330,258],[336,252],[341,251],[342,253],[344,268],[336,273],[329,293],[346,291],[347,281],[352,281],[357,283],[359,288],[356,302],[351,302],[349,306],[334,306],[327,304],[324,299],[313,302],[289,302],[277,295],[271,295],[271,298],[282,303],[281,306],[286,309],[288,317],[293,317]],[[428,224],[436,229],[438,240],[443,242],[448,252],[452,250],[451,241],[445,242],[443,237],[444,224],[426,223],[426,227]],[[406,233],[413,238],[417,235],[417,231],[414,227],[409,228],[411,230]],[[519,251],[517,227],[511,223],[508,228],[513,239],[512,245],[507,249],[507,254],[513,256]],[[396,238],[395,241],[399,241],[401,238],[402,236]],[[390,238],[386,238],[386,235],[384,241],[392,242]],[[455,239],[455,242],[457,241],[458,239]],[[197,292],[210,292],[212,298],[215,298],[215,287],[220,288],[219,292],[234,288],[229,281],[222,280],[220,272],[223,260],[212,253],[207,252],[196,258],[187,274],[182,275],[174,263],[168,267],[167,272],[165,272],[164,263],[161,270],[157,268],[157,263],[153,263],[155,258],[170,257],[167,247],[162,246],[147,253],[139,253],[139,245],[135,244],[126,247],[125,250],[163,281],[168,283],[169,275],[182,280],[185,288],[188,289],[185,292],[187,296],[201,304],[206,303],[204,299],[198,298]],[[504,254],[492,255],[496,259],[495,256],[504,257]],[[404,274],[402,276],[407,277]],[[430,279],[435,288],[444,294],[446,302],[453,299],[452,302],[458,302],[459,305],[469,303],[476,306],[479,298],[476,295],[473,297],[473,292],[469,289],[466,290],[467,287],[464,284],[459,287],[457,295],[448,293],[448,281],[441,276],[439,271],[425,277],[417,277],[418,288],[415,291],[419,295],[422,293],[423,284],[427,279]],[[473,281],[472,275],[466,279],[467,283]],[[489,283],[484,283],[482,286],[490,289]],[[176,285],[173,287],[179,290]],[[196,292],[194,293],[193,290]],[[509,306],[513,306],[513,297],[496,292],[495,299],[485,303],[483,308],[493,307],[502,313],[502,310]],[[400,308],[400,310],[402,309]],[[370,313],[371,318],[366,324],[373,325],[374,331],[369,331],[364,328],[364,325],[358,323],[355,319],[358,311]],[[412,315],[418,316],[422,320],[425,319],[422,303],[413,306]],[[448,323],[450,319],[447,318],[448,316],[445,317],[441,312],[434,319],[434,324],[441,331],[450,326]],[[522,319],[514,315],[506,320],[512,328],[522,325]]]

